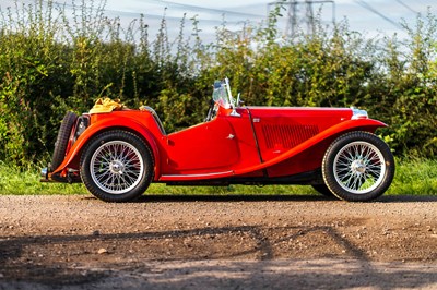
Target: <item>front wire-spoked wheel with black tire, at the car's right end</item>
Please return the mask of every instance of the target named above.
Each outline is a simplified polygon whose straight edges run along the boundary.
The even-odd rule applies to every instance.
[[[389,146],[368,132],[336,138],[324,154],[322,176],[329,190],[349,202],[368,202],[382,195],[394,177]]]

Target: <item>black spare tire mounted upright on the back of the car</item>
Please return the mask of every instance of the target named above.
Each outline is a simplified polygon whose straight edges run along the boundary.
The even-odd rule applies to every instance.
[[[54,155],[51,156],[51,170],[56,170],[66,158],[67,146],[70,140],[71,130],[78,120],[78,114],[67,112],[59,128],[58,137],[55,143]]]

